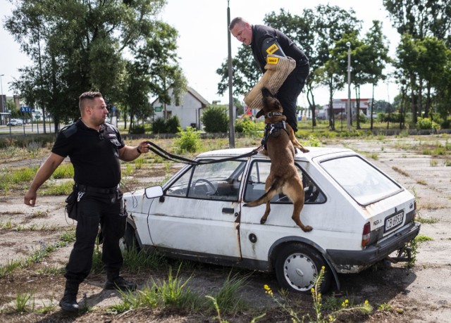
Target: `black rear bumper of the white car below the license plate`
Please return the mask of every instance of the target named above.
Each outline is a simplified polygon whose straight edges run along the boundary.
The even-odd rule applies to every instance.
[[[419,234],[421,224],[413,223],[401,232],[362,251],[328,249],[326,252],[338,272],[359,272],[383,260]]]

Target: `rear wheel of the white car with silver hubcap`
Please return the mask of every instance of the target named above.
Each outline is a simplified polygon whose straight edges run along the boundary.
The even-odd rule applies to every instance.
[[[321,293],[328,291],[332,281],[328,265],[313,248],[304,243],[290,243],[283,246],[277,255],[276,278],[284,289],[297,293],[310,293],[323,266],[326,270],[320,287]]]

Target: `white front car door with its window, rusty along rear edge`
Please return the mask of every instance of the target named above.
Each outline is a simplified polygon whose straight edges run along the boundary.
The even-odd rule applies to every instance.
[[[154,246],[171,253],[239,260],[238,196],[245,160],[197,165],[164,187],[149,208]]]

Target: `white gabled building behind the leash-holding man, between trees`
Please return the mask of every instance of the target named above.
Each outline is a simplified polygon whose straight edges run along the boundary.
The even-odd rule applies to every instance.
[[[155,118],[164,118],[165,113],[167,118],[174,115],[178,116],[180,120],[180,127],[196,127],[202,129],[200,118],[209,102],[206,101],[197,91],[192,87],[187,87],[186,93],[180,100],[180,106],[175,106],[175,99],[173,98],[173,89],[169,89],[171,96],[171,104],[163,104],[156,99],[151,104],[154,107]]]

